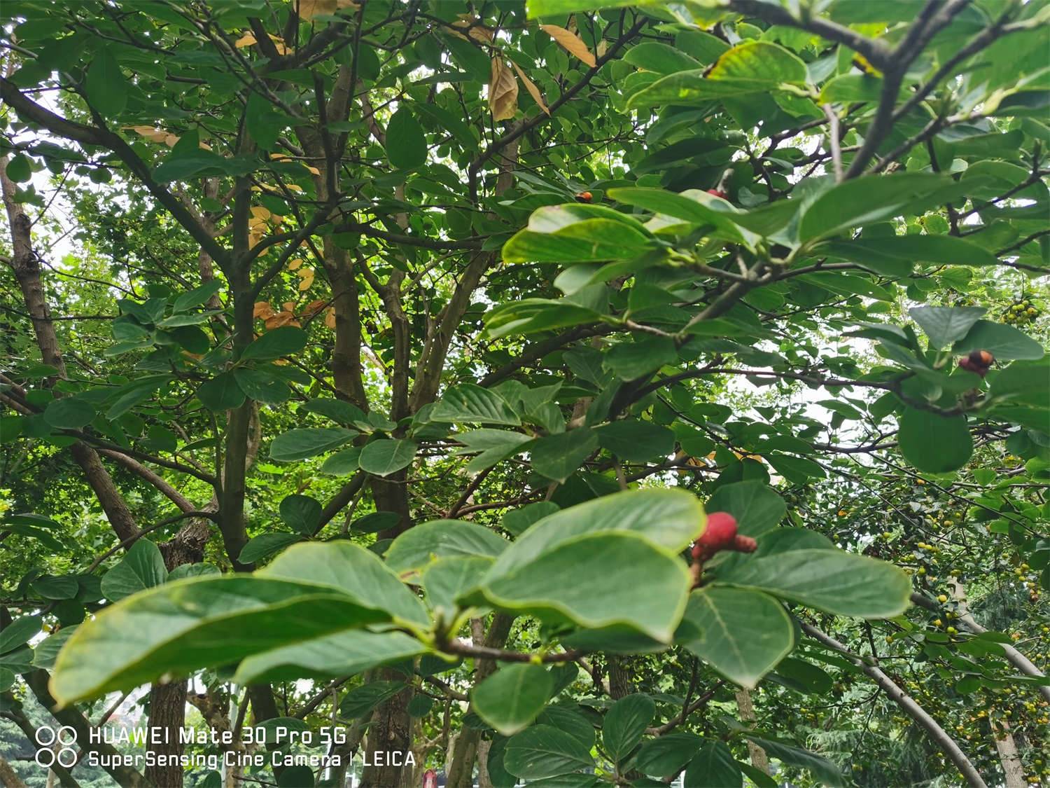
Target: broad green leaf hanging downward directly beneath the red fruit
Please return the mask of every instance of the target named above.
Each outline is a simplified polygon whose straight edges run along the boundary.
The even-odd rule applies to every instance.
[[[690,595],[675,640],[753,689],[794,648],[795,631],[783,605],[769,595],[708,586]]]

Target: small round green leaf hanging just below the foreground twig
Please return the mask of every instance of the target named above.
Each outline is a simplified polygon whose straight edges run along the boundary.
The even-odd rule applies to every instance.
[[[471,707],[505,737],[525,729],[543,711],[554,691],[554,679],[540,665],[500,668],[474,688]]]

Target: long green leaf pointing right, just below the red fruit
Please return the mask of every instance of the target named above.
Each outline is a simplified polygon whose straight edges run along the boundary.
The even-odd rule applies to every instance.
[[[911,581],[884,561],[840,549],[793,549],[748,557],[719,574],[718,585],[762,590],[825,613],[888,619],[907,609]]]

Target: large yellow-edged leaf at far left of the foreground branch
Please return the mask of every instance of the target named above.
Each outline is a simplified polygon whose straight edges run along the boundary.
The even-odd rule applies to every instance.
[[[383,604],[382,599],[365,604],[337,589],[264,577],[165,583],[77,627],[56,661],[51,692],[66,704],[165,673],[228,665],[268,648],[388,621]]]

